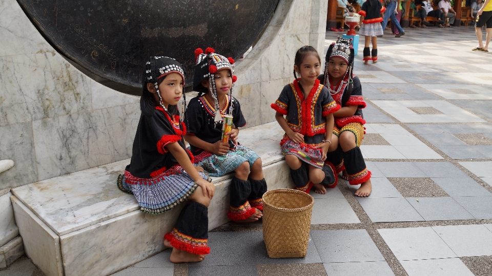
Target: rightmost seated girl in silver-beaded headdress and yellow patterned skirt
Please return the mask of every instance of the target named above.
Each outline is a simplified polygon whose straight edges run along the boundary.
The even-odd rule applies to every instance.
[[[371,172],[367,170],[360,151],[364,137],[365,120],[362,108],[366,106],[362,97],[359,78],[353,74],[354,49],[351,39],[338,37],[328,48],[324,74],[318,79],[330,90],[333,99],[341,108],[333,113],[332,145],[328,149],[329,159],[342,178],[350,185],[361,185],[356,196],[371,194]]]

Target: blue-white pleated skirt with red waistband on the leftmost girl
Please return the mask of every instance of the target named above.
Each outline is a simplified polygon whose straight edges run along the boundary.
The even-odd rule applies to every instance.
[[[199,174],[203,179],[212,181],[206,173]],[[173,209],[198,187],[179,165],[153,178],[138,178],[125,171],[125,174],[118,176],[117,185],[121,191],[135,196],[140,211],[154,215]]]

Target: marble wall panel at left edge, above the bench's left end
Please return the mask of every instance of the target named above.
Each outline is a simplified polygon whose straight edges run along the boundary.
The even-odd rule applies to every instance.
[[[0,173],[0,189],[37,181],[31,122],[0,126],[0,141],[0,156],[14,160],[14,167]]]

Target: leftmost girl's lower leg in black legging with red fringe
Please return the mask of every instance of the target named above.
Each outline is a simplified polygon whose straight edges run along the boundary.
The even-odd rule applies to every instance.
[[[172,231],[164,236],[164,245],[173,248],[170,257],[173,263],[200,262],[210,253],[207,245],[210,198],[204,196],[203,189],[198,186],[188,197],[188,202]]]

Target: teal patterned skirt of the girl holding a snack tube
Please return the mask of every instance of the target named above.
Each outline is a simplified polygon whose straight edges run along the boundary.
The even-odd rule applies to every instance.
[[[222,176],[237,169],[242,163],[248,161],[250,167],[256,159],[260,158],[253,150],[238,145],[226,155],[216,155],[209,151],[203,151],[195,156],[195,165],[202,167],[210,176]]]

